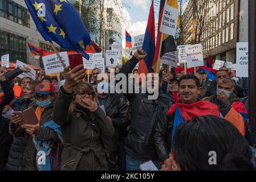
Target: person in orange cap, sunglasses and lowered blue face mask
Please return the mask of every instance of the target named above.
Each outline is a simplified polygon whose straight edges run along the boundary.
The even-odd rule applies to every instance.
[[[24,155],[25,171],[37,171],[44,169],[58,170],[58,163],[60,163],[60,153],[62,149],[62,136],[59,132],[60,127],[52,121],[51,117],[51,113],[54,109],[54,101],[56,99],[55,87],[50,82],[42,82],[36,85],[33,93],[35,93],[36,105],[38,105],[38,107],[36,107],[35,114],[38,118],[39,124],[22,125],[15,133],[17,137],[21,137],[26,133],[29,134]],[[12,115],[11,122],[13,122],[15,126],[18,127],[18,123],[21,121],[22,118],[19,117],[19,115]],[[52,161],[54,161],[52,166],[50,165],[50,162],[47,162],[46,165],[43,166],[40,166],[37,162],[38,160],[36,156],[39,148],[42,148],[39,143],[45,143],[47,146],[50,146],[51,149],[54,148],[52,152],[59,151],[59,153],[53,157],[55,160],[52,159]],[[51,157],[52,152],[46,152],[46,159],[48,159],[49,155]],[[47,167],[47,169],[44,167]]]

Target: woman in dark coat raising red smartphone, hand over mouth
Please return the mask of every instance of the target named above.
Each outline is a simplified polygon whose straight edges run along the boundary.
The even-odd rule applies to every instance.
[[[86,72],[78,65],[67,73],[66,82],[55,101],[53,119],[62,127],[64,149],[62,170],[108,170],[104,137],[115,129],[97,104],[92,86],[83,82]],[[79,71],[80,70],[80,71]]]

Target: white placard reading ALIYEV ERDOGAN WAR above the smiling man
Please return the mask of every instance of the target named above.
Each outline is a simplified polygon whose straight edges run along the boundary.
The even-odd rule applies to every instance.
[[[201,67],[204,65],[204,56],[202,53],[202,44],[185,46],[187,68]]]

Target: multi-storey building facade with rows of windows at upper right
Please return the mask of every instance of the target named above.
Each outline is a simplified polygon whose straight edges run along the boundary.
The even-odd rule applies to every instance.
[[[235,63],[237,42],[248,42],[247,10],[247,0],[190,0],[182,16],[186,43],[193,42],[197,34],[204,59],[211,55],[214,60]],[[204,11],[202,26],[198,26],[196,11]]]

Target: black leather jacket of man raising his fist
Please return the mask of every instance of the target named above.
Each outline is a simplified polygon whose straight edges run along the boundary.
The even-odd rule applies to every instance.
[[[132,57],[120,70],[128,78],[128,73],[139,61]],[[128,93],[124,94],[130,102],[131,107],[131,127],[125,142],[127,154],[137,160],[157,160],[153,132],[155,130],[156,119],[166,105],[171,102],[170,97],[160,93],[157,100],[148,100],[148,93]]]

